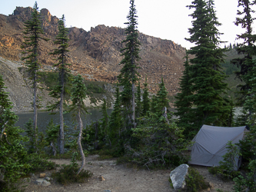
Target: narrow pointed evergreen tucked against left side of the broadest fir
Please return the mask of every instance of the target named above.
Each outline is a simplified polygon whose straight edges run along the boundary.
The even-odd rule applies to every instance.
[[[191,107],[192,103],[190,97],[192,95],[191,92],[191,83],[190,83],[190,68],[188,64],[188,53],[185,56],[185,70],[183,72],[183,76],[180,78],[180,88],[179,93],[175,96],[175,107],[177,108],[177,112],[175,115],[179,118],[177,119],[177,124],[179,127],[183,127],[185,129],[184,134],[188,135],[189,127],[191,124]]]

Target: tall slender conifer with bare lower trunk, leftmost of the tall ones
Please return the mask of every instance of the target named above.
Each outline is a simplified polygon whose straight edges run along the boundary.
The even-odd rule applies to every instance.
[[[32,10],[32,18],[25,22],[25,31],[23,33],[25,35],[25,41],[22,42],[21,48],[25,49],[22,51],[22,54],[26,55],[22,58],[25,60],[26,65],[28,66],[28,71],[32,76],[32,88],[34,89],[34,100],[33,100],[33,108],[34,108],[34,133],[36,133],[35,129],[37,127],[37,118],[38,118],[38,96],[37,96],[37,84],[38,84],[38,69],[40,67],[40,63],[38,61],[39,55],[39,41],[44,40],[48,41],[48,38],[42,37],[44,35],[44,31],[41,28],[41,20],[40,15],[38,13],[38,4],[35,2],[34,8]],[[34,135],[35,141],[37,141],[37,135]],[[37,144],[35,144],[37,145]]]

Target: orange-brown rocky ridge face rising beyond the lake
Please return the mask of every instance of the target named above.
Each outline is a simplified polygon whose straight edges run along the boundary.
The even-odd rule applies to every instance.
[[[32,8],[17,7],[13,15],[0,15],[0,56],[11,61],[20,61],[24,41],[22,33],[25,21],[30,18]],[[52,56],[48,55],[55,48],[53,41],[58,34],[58,18],[52,16],[46,8],[40,11],[42,28],[45,36],[51,40],[41,42],[40,60],[42,65],[52,65]],[[125,29],[98,25],[85,31],[82,28],[69,28],[69,63],[74,73],[82,74],[90,81],[106,81],[114,83],[121,68],[120,49],[125,45]],[[152,93],[158,91],[161,77],[165,80],[169,94],[178,92],[178,81],[183,71],[185,48],[173,41],[162,40],[139,33],[141,42],[138,62],[141,83],[148,77],[149,89]],[[142,86],[143,87],[143,86]]]

